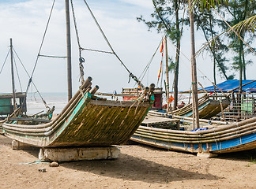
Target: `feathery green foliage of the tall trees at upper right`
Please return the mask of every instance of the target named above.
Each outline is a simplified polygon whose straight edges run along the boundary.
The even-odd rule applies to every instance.
[[[246,67],[252,64],[248,60],[247,54],[251,53],[252,48],[245,46],[240,37],[246,40],[248,44],[253,43],[256,28],[256,0],[152,0],[155,11],[151,14],[152,20],[145,20],[144,17],[137,17],[138,21],[145,23],[149,31],[156,29],[157,32],[166,32],[168,38],[173,43],[178,44],[182,37],[182,31],[177,29],[177,20],[175,20],[176,10],[179,15],[183,12],[182,7],[187,7],[188,3],[192,3],[192,9],[195,16],[194,21],[196,28],[203,31],[206,42],[209,46],[205,48],[213,58],[213,65],[226,80],[234,78],[234,74],[228,76],[229,70],[243,71],[243,77],[246,78]],[[178,8],[175,7],[178,5]],[[230,29],[228,24],[223,20],[228,21],[232,26]],[[189,25],[189,19],[186,17],[178,19],[178,24],[184,21]],[[217,37],[220,33],[229,31],[229,35],[220,39]],[[234,31],[240,35],[238,37]],[[232,51],[233,57],[228,59],[225,54]],[[179,64],[177,58],[175,61],[169,57],[169,69],[175,70]],[[232,65],[228,65],[228,61],[232,61]],[[215,69],[214,69],[215,70]],[[216,74],[215,72],[213,73]]]

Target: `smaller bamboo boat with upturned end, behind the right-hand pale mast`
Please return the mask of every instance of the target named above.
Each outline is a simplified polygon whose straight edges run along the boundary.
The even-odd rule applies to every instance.
[[[210,119],[216,116],[216,114],[221,112],[221,109],[225,109],[229,106],[230,102],[227,98],[220,100],[215,100],[211,98],[211,95],[205,94],[198,98],[198,112],[200,119]],[[176,109],[169,114],[182,117],[192,117],[193,109],[192,103],[184,106],[181,109]]]

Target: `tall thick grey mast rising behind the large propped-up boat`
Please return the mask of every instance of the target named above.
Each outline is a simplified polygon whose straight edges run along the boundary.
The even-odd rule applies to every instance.
[[[72,98],[72,78],[71,78],[71,38],[70,38],[70,1],[65,0],[66,5],[66,47],[67,47],[67,82],[68,101]]]

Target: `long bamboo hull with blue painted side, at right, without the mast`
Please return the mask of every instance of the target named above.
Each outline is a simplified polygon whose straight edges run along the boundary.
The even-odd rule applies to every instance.
[[[230,153],[256,149],[256,117],[199,132],[140,126],[131,140],[138,143],[190,153]]]

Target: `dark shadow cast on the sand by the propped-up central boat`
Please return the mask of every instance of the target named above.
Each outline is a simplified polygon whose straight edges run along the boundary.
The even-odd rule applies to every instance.
[[[189,172],[171,166],[157,164],[127,154],[121,154],[117,160],[77,161],[62,163],[63,167],[96,175],[119,178],[123,180],[139,180],[146,183],[168,183],[179,180],[218,180],[217,176]]]

